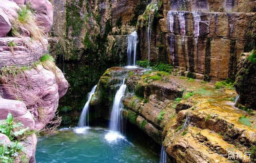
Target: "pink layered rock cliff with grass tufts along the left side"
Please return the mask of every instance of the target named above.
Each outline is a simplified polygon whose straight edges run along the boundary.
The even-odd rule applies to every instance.
[[[24,124],[29,131],[26,139],[19,138],[24,148],[10,159],[34,163],[35,132],[51,131],[60,124],[58,101],[68,89],[64,74],[47,54],[52,4],[48,0],[0,1],[0,121],[11,113],[14,122]]]

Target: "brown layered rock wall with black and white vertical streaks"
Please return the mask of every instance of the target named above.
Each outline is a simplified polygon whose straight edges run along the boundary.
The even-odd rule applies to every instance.
[[[254,1],[163,1],[159,21],[166,33],[168,62],[213,79],[235,79],[244,52]],[[145,58],[145,56],[144,56]]]

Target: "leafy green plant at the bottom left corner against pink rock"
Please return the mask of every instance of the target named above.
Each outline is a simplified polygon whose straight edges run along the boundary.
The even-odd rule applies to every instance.
[[[5,144],[4,142],[0,144],[0,160],[2,163],[13,163],[14,158],[24,150],[17,137],[24,135],[29,128],[20,129],[22,126],[24,126],[22,123],[15,123],[13,121],[11,113],[8,113],[6,120],[2,121],[0,133],[3,133],[11,140],[10,144]]]

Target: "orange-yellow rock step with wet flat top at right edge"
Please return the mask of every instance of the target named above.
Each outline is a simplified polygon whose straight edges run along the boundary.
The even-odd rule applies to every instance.
[[[256,119],[227,101],[202,101],[177,115],[178,123],[190,117],[190,125],[210,129],[223,135],[223,140],[248,149],[256,139]]]

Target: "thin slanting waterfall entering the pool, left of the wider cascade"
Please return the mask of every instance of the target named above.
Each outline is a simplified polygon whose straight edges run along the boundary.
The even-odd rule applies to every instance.
[[[78,127],[89,126],[89,104],[94,95],[97,85],[95,85],[92,90],[88,93],[88,100],[86,101],[81,116],[79,118]],[[87,116],[87,119],[86,119]]]

